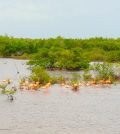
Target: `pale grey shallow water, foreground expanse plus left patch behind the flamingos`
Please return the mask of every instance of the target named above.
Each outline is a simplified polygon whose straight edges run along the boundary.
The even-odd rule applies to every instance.
[[[1,80],[29,74],[25,61],[15,60],[18,75],[13,60],[6,60],[0,60]],[[0,134],[120,134],[120,85],[79,92],[54,85],[18,91],[15,97],[9,102],[0,95]]]

